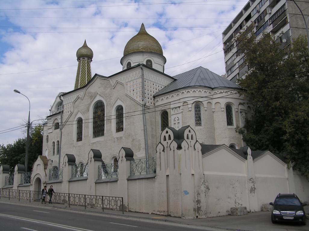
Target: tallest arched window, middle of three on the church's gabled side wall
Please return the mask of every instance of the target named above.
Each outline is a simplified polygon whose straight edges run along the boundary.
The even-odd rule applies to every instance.
[[[102,101],[95,104],[93,108],[93,138],[104,136],[105,106]]]

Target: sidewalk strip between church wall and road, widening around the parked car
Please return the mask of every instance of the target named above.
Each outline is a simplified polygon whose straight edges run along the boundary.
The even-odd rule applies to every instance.
[[[116,210],[107,210],[105,209],[104,212],[102,209],[98,208],[84,208],[83,206],[68,206],[66,204],[41,204],[41,202],[36,201],[29,201],[22,200],[18,201],[17,199],[8,199],[2,198],[0,203],[17,203],[23,204],[28,206],[36,206],[36,207],[45,207],[45,208],[53,208],[53,209],[64,209],[64,210],[71,210],[77,212],[85,212],[85,213],[94,213],[106,216],[118,216],[118,217],[125,217],[125,218],[132,218],[132,219],[146,219],[151,221],[162,221],[162,222],[172,222],[177,224],[183,225],[193,225],[193,226],[201,226],[207,228],[207,230],[232,230],[232,231],[258,231],[258,230],[276,230],[270,221],[270,212],[253,212],[248,213],[244,216],[222,216],[222,217],[209,217],[209,218],[199,218],[199,219],[181,219],[178,217],[168,217],[156,214],[148,214],[148,213],[138,213],[138,212],[124,212],[116,211]],[[309,214],[309,205],[305,206],[305,211]],[[268,227],[269,226],[269,227]],[[306,228],[306,226],[299,226],[297,228]],[[270,228],[270,229],[269,229]],[[282,227],[281,227],[282,228]],[[296,228],[296,227],[295,227]],[[292,229],[289,229],[292,230]],[[304,229],[306,230],[306,229]]]

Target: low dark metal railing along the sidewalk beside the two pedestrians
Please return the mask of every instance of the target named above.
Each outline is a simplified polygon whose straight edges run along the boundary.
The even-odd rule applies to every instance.
[[[0,199],[1,197],[10,199],[18,199],[20,200],[29,200],[31,201],[42,201],[40,191],[29,191],[29,190],[18,190],[18,189],[9,189],[9,188],[1,188],[0,189]],[[85,194],[75,194],[75,193],[53,193],[52,197],[53,203],[58,204],[67,204],[69,207],[71,205],[76,206],[84,206],[87,207],[95,207],[104,209],[112,209],[122,211],[124,214],[124,206],[123,206],[123,197],[117,196],[95,196],[95,195],[85,195]]]

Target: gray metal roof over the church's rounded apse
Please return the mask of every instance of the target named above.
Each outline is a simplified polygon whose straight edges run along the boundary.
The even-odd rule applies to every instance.
[[[182,74],[173,76],[176,80],[171,82],[165,88],[161,89],[154,96],[162,95],[178,89],[188,87],[206,87],[206,88],[233,88],[239,89],[240,86],[226,78],[211,72],[207,68],[198,67]]]

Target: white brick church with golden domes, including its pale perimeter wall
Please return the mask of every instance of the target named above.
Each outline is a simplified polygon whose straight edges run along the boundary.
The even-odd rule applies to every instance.
[[[162,47],[143,24],[120,72],[92,77],[86,41],[76,56],[75,87],[53,102],[31,184],[13,188],[116,195],[127,211],[182,218],[260,211],[278,193],[309,201],[308,182],[282,156],[251,151],[235,132],[252,113],[240,87],[203,67],[165,74]]]

